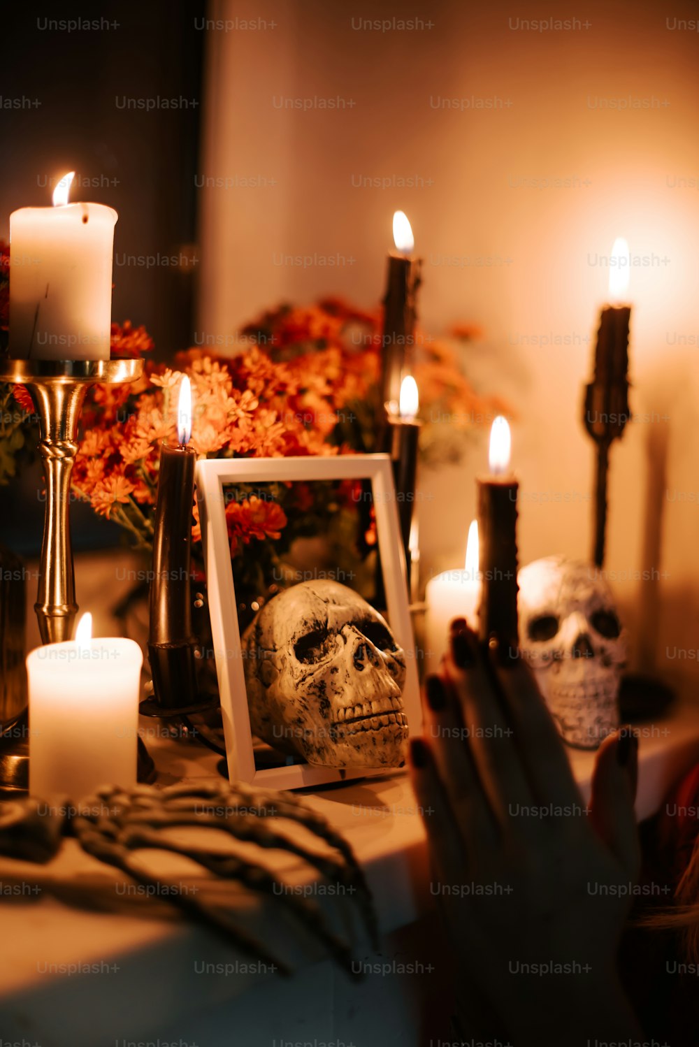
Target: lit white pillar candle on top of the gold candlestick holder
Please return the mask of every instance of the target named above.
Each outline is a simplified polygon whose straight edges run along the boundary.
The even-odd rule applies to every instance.
[[[72,173],[53,207],[9,216],[9,355],[13,359],[108,360],[112,247],[117,214],[68,203]]]

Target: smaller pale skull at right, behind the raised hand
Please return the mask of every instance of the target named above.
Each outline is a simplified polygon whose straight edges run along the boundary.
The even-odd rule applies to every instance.
[[[596,749],[618,727],[627,634],[595,567],[547,556],[519,572],[519,644],[569,745]]]

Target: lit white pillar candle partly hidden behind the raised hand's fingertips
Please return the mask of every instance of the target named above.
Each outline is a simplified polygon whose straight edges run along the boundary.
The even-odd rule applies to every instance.
[[[455,618],[465,618],[472,629],[477,628],[480,602],[478,572],[478,525],[471,522],[463,571],[445,571],[427,583],[425,588],[427,672],[436,672],[449,646],[449,625]]]

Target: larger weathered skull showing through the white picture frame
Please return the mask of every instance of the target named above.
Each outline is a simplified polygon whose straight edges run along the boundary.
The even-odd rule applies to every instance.
[[[330,767],[405,762],[405,652],[346,585],[300,582],[273,597],[243,658],[252,731],[274,749]]]

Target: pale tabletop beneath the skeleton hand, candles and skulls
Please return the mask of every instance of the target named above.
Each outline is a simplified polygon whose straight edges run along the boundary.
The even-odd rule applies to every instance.
[[[152,723],[146,721],[144,730]],[[669,786],[699,759],[699,709],[694,701],[678,701],[663,719],[641,725],[638,730],[636,812],[640,820],[659,807]],[[163,739],[149,742],[149,748],[161,784],[211,778],[221,781],[216,770],[220,758],[197,742]],[[568,752],[586,800],[594,754]],[[302,796],[306,804],[323,815],[352,844],[375,895],[383,933],[405,927],[429,911],[425,833],[405,773],[359,779]],[[307,867],[296,860],[285,856],[284,862],[292,878],[308,878],[308,872],[301,872]],[[60,855],[46,866],[0,860],[3,900],[7,900],[12,884],[31,884],[36,888],[33,893],[23,888],[20,901],[24,904],[14,904],[18,900],[14,897],[2,909],[3,937],[14,944],[2,953],[0,1005],[8,997],[26,994],[46,982],[45,975],[38,972],[38,955],[48,963],[88,962],[99,957],[100,961],[118,958],[123,965],[143,951],[186,948],[187,936],[207,933],[162,918],[161,912],[156,917],[146,914],[145,904],[134,904],[118,918],[113,913],[89,912],[70,904],[71,899],[80,899],[86,884],[104,883],[113,892],[119,878],[118,873],[83,853],[74,840],[66,841]],[[265,914],[261,910],[254,918],[264,919]],[[298,962],[298,957],[295,959]],[[244,980],[236,984],[241,989]]]

